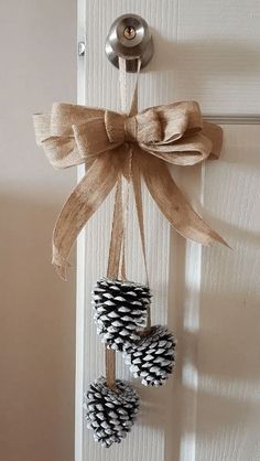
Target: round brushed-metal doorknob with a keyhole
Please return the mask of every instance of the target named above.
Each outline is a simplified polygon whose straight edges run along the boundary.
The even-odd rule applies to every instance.
[[[105,52],[116,67],[118,57],[123,57],[127,72],[137,72],[139,58],[141,67],[148,65],[153,55],[153,42],[147,21],[138,14],[123,14],[116,19],[107,36]]]

